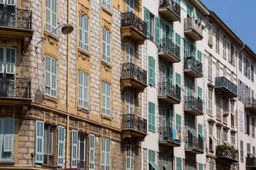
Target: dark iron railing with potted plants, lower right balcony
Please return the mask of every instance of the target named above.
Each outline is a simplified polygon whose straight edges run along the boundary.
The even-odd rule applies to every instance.
[[[216,146],[216,157],[227,157],[238,161],[238,150],[219,145]]]

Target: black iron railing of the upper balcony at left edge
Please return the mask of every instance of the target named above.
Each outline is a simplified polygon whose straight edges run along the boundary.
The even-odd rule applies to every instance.
[[[0,7],[0,26],[31,30],[32,11]]]

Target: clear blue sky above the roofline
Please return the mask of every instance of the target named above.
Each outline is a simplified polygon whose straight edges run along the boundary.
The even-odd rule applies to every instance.
[[[256,53],[256,0],[201,0]]]

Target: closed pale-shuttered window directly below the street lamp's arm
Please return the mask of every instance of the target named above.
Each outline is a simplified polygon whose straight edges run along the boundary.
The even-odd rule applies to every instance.
[[[45,94],[57,98],[57,60],[45,56]]]

